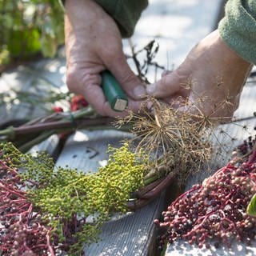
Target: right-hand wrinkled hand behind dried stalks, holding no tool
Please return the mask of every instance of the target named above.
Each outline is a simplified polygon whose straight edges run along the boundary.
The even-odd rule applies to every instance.
[[[250,63],[230,50],[215,30],[194,46],[177,70],[163,73],[147,92],[181,111],[225,121],[238,107],[250,69]]]

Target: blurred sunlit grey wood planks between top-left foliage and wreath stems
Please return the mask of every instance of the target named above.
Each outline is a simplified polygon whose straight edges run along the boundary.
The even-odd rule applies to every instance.
[[[30,66],[18,66],[0,76],[0,94],[10,94],[13,102],[0,99],[0,124],[14,120],[27,120],[47,114],[47,102],[40,104],[39,98],[50,98],[50,91],[67,90],[64,82],[65,59],[42,59]],[[18,97],[18,94],[22,96]],[[26,96],[25,96],[26,95]],[[25,99],[26,98],[26,99]],[[51,102],[54,103],[54,102]]]

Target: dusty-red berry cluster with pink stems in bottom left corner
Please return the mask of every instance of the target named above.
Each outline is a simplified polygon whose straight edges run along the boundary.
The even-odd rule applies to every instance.
[[[17,170],[0,161],[0,251],[2,255],[55,255],[50,228],[27,198]]]

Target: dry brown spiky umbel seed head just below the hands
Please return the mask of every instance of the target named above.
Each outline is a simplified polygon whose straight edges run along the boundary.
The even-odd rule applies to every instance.
[[[130,113],[117,124],[132,126],[136,149],[150,155],[150,170],[164,167],[166,174],[173,172],[184,182],[188,174],[200,170],[210,159],[210,129],[201,129],[198,124],[202,120],[194,120],[191,114],[181,113],[164,102],[150,99],[150,104],[153,104],[153,114],[144,106],[140,114]]]

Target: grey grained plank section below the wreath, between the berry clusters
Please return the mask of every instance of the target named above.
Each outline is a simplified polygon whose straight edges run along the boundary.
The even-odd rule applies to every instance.
[[[102,240],[85,248],[86,255],[154,256],[154,250],[150,250],[155,241],[153,221],[158,218],[162,202],[162,198],[158,198],[133,214],[106,223],[100,236]]]

